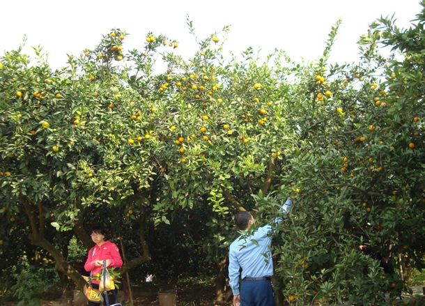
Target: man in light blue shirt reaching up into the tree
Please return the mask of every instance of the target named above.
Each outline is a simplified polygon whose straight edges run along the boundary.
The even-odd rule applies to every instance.
[[[281,207],[281,212],[288,212],[291,205],[292,200],[287,199]],[[233,305],[275,306],[270,282],[273,275],[270,245],[272,234],[282,220],[282,217],[277,217],[273,222],[249,233],[249,227],[255,223],[252,214],[247,211],[239,211],[236,214],[236,224],[247,233],[239,236],[229,248],[229,279],[233,291]],[[240,288],[239,276],[242,278]]]

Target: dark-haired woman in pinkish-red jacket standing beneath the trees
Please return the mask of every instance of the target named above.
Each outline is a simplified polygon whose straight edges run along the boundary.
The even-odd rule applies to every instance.
[[[121,259],[116,244],[111,243],[109,240],[105,241],[105,229],[103,229],[103,227],[93,227],[91,239],[95,245],[88,251],[87,260],[84,264],[84,269],[90,272],[91,277],[95,277],[96,275],[99,276],[102,273],[103,261],[106,261],[107,268],[120,268],[123,266],[123,260]],[[93,289],[99,289],[99,282],[100,281],[96,279],[92,281],[91,284]],[[108,294],[109,305],[117,303],[117,290],[115,289],[112,291],[109,291],[112,294]],[[88,306],[99,306],[99,304],[88,301]]]

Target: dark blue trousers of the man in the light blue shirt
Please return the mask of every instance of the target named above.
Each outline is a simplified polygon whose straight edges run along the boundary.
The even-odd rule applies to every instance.
[[[275,306],[270,280],[242,280],[240,306]]]

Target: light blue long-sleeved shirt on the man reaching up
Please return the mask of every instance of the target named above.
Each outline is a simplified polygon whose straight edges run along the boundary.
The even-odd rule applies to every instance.
[[[286,213],[292,201],[287,199],[281,207]],[[273,260],[270,245],[277,224],[283,220],[277,217],[269,224],[259,227],[252,234],[239,236],[229,248],[229,283],[233,296],[239,296],[239,270],[242,268],[242,280],[245,277],[264,277],[273,275]]]

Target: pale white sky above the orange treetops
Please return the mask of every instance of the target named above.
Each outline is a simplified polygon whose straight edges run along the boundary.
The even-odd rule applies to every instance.
[[[307,60],[320,57],[332,24],[341,18],[331,61],[350,62],[371,22],[395,13],[397,24],[408,27],[421,10],[419,0],[7,0],[1,6],[0,52],[17,48],[26,34],[26,46],[42,45],[54,68],[65,64],[66,54],[95,47],[112,28],[130,33],[125,49],[141,47],[148,31],[164,33],[188,59],[196,45],[187,14],[201,39],[230,25],[226,49],[237,54],[249,46],[261,47],[262,54],[277,47]]]

